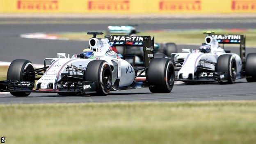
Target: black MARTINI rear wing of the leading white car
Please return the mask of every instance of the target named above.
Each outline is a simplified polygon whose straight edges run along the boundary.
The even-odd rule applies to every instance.
[[[143,47],[143,61],[144,66],[149,66],[149,61],[154,57],[154,37],[151,39],[150,36],[125,36],[125,35],[110,35],[105,36],[105,38],[110,40],[113,46],[126,46],[129,47]],[[125,51],[125,50],[124,50]]]

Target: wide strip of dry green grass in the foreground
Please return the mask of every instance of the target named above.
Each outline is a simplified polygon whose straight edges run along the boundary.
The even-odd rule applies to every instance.
[[[0,105],[7,144],[253,144],[256,101]]]

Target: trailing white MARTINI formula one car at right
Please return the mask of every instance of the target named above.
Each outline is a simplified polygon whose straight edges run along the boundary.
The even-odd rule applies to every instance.
[[[219,82],[232,84],[236,79],[246,78],[248,82],[256,82],[256,53],[249,53],[245,59],[245,36],[207,34],[205,43],[199,50],[183,49],[187,53],[174,53],[172,59],[177,66],[176,81],[187,83]],[[224,44],[240,44],[240,56],[225,51],[219,46]]]

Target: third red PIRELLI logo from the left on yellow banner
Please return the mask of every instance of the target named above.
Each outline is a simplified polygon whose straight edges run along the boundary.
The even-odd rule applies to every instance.
[[[181,1],[161,0],[159,2],[159,10],[199,11],[201,10],[201,0],[181,0]]]

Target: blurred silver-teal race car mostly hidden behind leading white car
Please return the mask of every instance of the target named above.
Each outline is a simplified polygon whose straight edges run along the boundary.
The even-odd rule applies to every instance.
[[[108,33],[109,34],[126,34],[130,37],[135,36],[139,32],[136,30],[137,25],[127,25],[127,26],[109,26]],[[154,57],[170,57],[171,53],[177,53],[178,49],[175,43],[155,43],[154,45]],[[123,53],[122,48],[117,48],[120,53]],[[141,50],[142,51],[142,50]],[[141,56],[141,51],[138,48],[126,48],[126,53],[133,53],[138,56]],[[139,57],[142,59],[142,57]],[[142,60],[141,60],[142,61]]]

